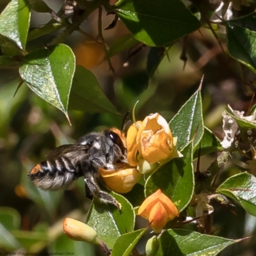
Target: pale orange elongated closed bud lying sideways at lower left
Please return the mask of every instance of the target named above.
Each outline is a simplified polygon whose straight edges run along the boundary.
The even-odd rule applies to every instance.
[[[97,232],[81,221],[65,218],[63,221],[63,230],[72,240],[101,244],[101,239],[97,236]]]

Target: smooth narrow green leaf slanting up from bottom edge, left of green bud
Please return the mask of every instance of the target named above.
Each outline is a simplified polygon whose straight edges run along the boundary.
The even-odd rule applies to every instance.
[[[134,246],[136,246],[146,231],[147,228],[141,228],[131,233],[122,234],[116,240],[111,256],[129,256]]]

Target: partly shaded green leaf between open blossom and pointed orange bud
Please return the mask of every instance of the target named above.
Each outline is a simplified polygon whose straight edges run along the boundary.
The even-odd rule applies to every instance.
[[[182,151],[184,157],[172,159],[148,177],[145,184],[146,196],[152,195],[160,188],[172,199],[179,212],[189,204],[195,186],[192,147],[190,143]]]

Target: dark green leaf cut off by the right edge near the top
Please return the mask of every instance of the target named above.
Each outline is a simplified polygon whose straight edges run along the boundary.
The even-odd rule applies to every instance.
[[[227,47],[230,55],[256,72],[255,13],[223,22],[227,30]]]

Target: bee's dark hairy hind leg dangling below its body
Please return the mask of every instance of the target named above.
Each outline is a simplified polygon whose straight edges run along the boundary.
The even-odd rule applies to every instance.
[[[115,200],[115,198],[113,198],[113,196],[100,190],[99,186],[97,186],[97,183],[95,182],[95,178],[92,175],[86,175],[86,177],[84,177],[84,182],[95,198],[99,198],[99,200],[106,204],[113,204],[117,207],[118,211],[121,211],[121,205]]]

